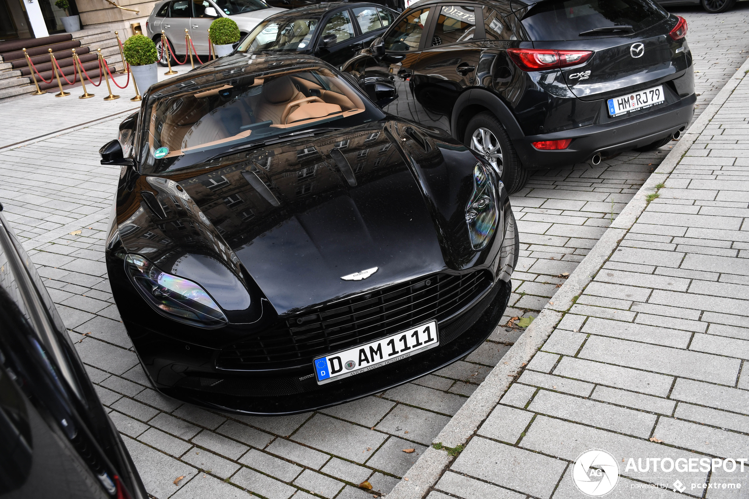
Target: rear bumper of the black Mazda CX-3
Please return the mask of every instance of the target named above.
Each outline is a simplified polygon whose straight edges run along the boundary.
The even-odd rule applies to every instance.
[[[527,135],[515,139],[513,145],[521,162],[528,170],[557,168],[586,162],[595,153],[603,157],[613,156],[625,150],[652,144],[688,126],[694,114],[696,101],[697,96],[691,94],[678,102],[658,108],[658,111],[640,114],[628,120],[583,126],[544,135]],[[537,150],[533,147],[533,142],[557,141],[565,138],[572,139],[570,146],[565,150]]]

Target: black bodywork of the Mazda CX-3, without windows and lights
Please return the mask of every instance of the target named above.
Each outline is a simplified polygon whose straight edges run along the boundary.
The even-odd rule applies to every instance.
[[[444,129],[459,141],[463,141],[473,115],[491,111],[512,138],[524,168],[531,170],[584,162],[601,151],[613,155],[646,146],[688,125],[696,100],[693,61],[688,43],[668,36],[676,25],[675,16],[664,14],[662,21],[626,36],[531,41],[519,19],[536,3],[461,3],[473,5],[477,18],[481,7],[496,11],[497,19],[506,25],[504,32],[512,32],[513,39],[480,40],[482,30],[477,28],[473,40],[434,47],[427,45],[432,40],[436,8],[452,3],[412,4],[393,26],[409,12],[431,7],[418,50],[386,52],[377,59],[364,49],[347,61],[343,70],[365,89],[374,82],[394,83],[398,98],[386,111]],[[645,45],[642,58],[630,57],[633,43]],[[509,59],[507,49],[585,49],[595,53],[584,64],[526,72]],[[459,66],[476,69],[461,74]],[[586,78],[575,78],[587,71]],[[657,85],[664,85],[667,100],[663,104],[609,116],[607,99]],[[567,150],[536,150],[532,145],[557,138],[573,141]]]

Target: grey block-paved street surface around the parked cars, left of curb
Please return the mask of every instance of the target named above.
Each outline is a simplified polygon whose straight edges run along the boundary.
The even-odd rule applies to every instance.
[[[748,37],[742,37],[749,9],[737,7],[734,13],[710,17],[697,12],[681,15],[690,19],[693,51],[704,51],[699,54],[697,64],[702,66],[697,70],[707,68],[707,62],[719,62],[697,82],[697,91],[709,94],[711,89],[722,87],[738,67],[741,50],[749,48]],[[692,22],[690,16],[697,20]],[[697,40],[703,35],[712,40],[721,19],[731,23],[726,33],[729,39],[711,41],[710,48],[719,48],[713,52],[707,44],[700,48]],[[93,102],[99,97],[75,103]],[[76,108],[65,103],[73,107],[63,112],[59,107],[62,101],[52,97],[42,112],[55,112],[68,120],[65,123],[75,122],[64,114],[74,113]],[[28,130],[20,135],[22,138],[41,135],[37,133],[38,123],[27,126],[31,120],[22,108],[15,107],[17,102],[23,101],[0,105],[0,114],[13,116]],[[107,115],[94,111],[89,113],[91,119]],[[4,183],[0,200],[6,208],[4,214],[44,276],[148,491],[159,499],[249,497],[246,491],[266,498],[303,498],[310,493],[325,498],[359,498],[371,497],[354,489],[369,478],[375,492],[389,492],[520,331],[501,328],[473,355],[436,375],[315,414],[240,419],[160,397],[137,366],[103,267],[103,238],[119,169],[100,166],[97,150],[116,136],[119,120],[1,150]],[[521,236],[523,251],[527,252],[524,258],[528,259],[524,261],[530,264],[528,268],[535,267],[532,272],[515,275],[516,287],[525,287],[518,290],[514,302],[527,299],[518,305],[524,308],[509,313],[536,315],[533,310],[540,310],[562,282],[555,280],[560,269],[554,266],[563,262],[565,269],[574,269],[605,230],[607,223],[603,220],[610,222],[608,197],[619,196],[613,210],[616,217],[619,203],[623,206],[634,195],[667,150],[627,153],[606,168],[595,170],[543,172],[533,178],[526,192],[513,198],[518,216],[521,220],[527,217],[523,223],[528,228]],[[653,165],[648,165],[650,162]],[[588,197],[592,193],[603,193],[606,198],[591,200]],[[525,206],[524,200],[535,204]],[[544,205],[547,200],[551,202]],[[560,201],[567,203],[564,209],[552,211],[557,209],[554,203]],[[537,221],[535,217],[549,218]],[[70,234],[76,230],[82,233]],[[582,230],[591,231],[579,236]],[[554,231],[561,233],[558,239],[552,238]],[[539,248],[542,245],[544,248]],[[544,266],[548,267],[542,269]],[[537,298],[531,300],[532,296]],[[87,332],[91,334],[84,335]],[[402,452],[409,447],[416,452]],[[182,475],[185,478],[175,486],[172,481]]]

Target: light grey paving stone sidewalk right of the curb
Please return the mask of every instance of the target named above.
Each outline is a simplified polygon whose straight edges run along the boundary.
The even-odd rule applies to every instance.
[[[749,497],[743,68],[428,499],[585,498],[573,464],[590,449],[619,465],[611,497]]]

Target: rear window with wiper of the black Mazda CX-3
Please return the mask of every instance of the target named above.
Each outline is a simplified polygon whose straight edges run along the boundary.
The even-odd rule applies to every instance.
[[[530,7],[521,22],[531,40],[580,40],[634,33],[667,16],[650,0],[548,0]],[[616,25],[631,26],[631,30],[589,33]]]

